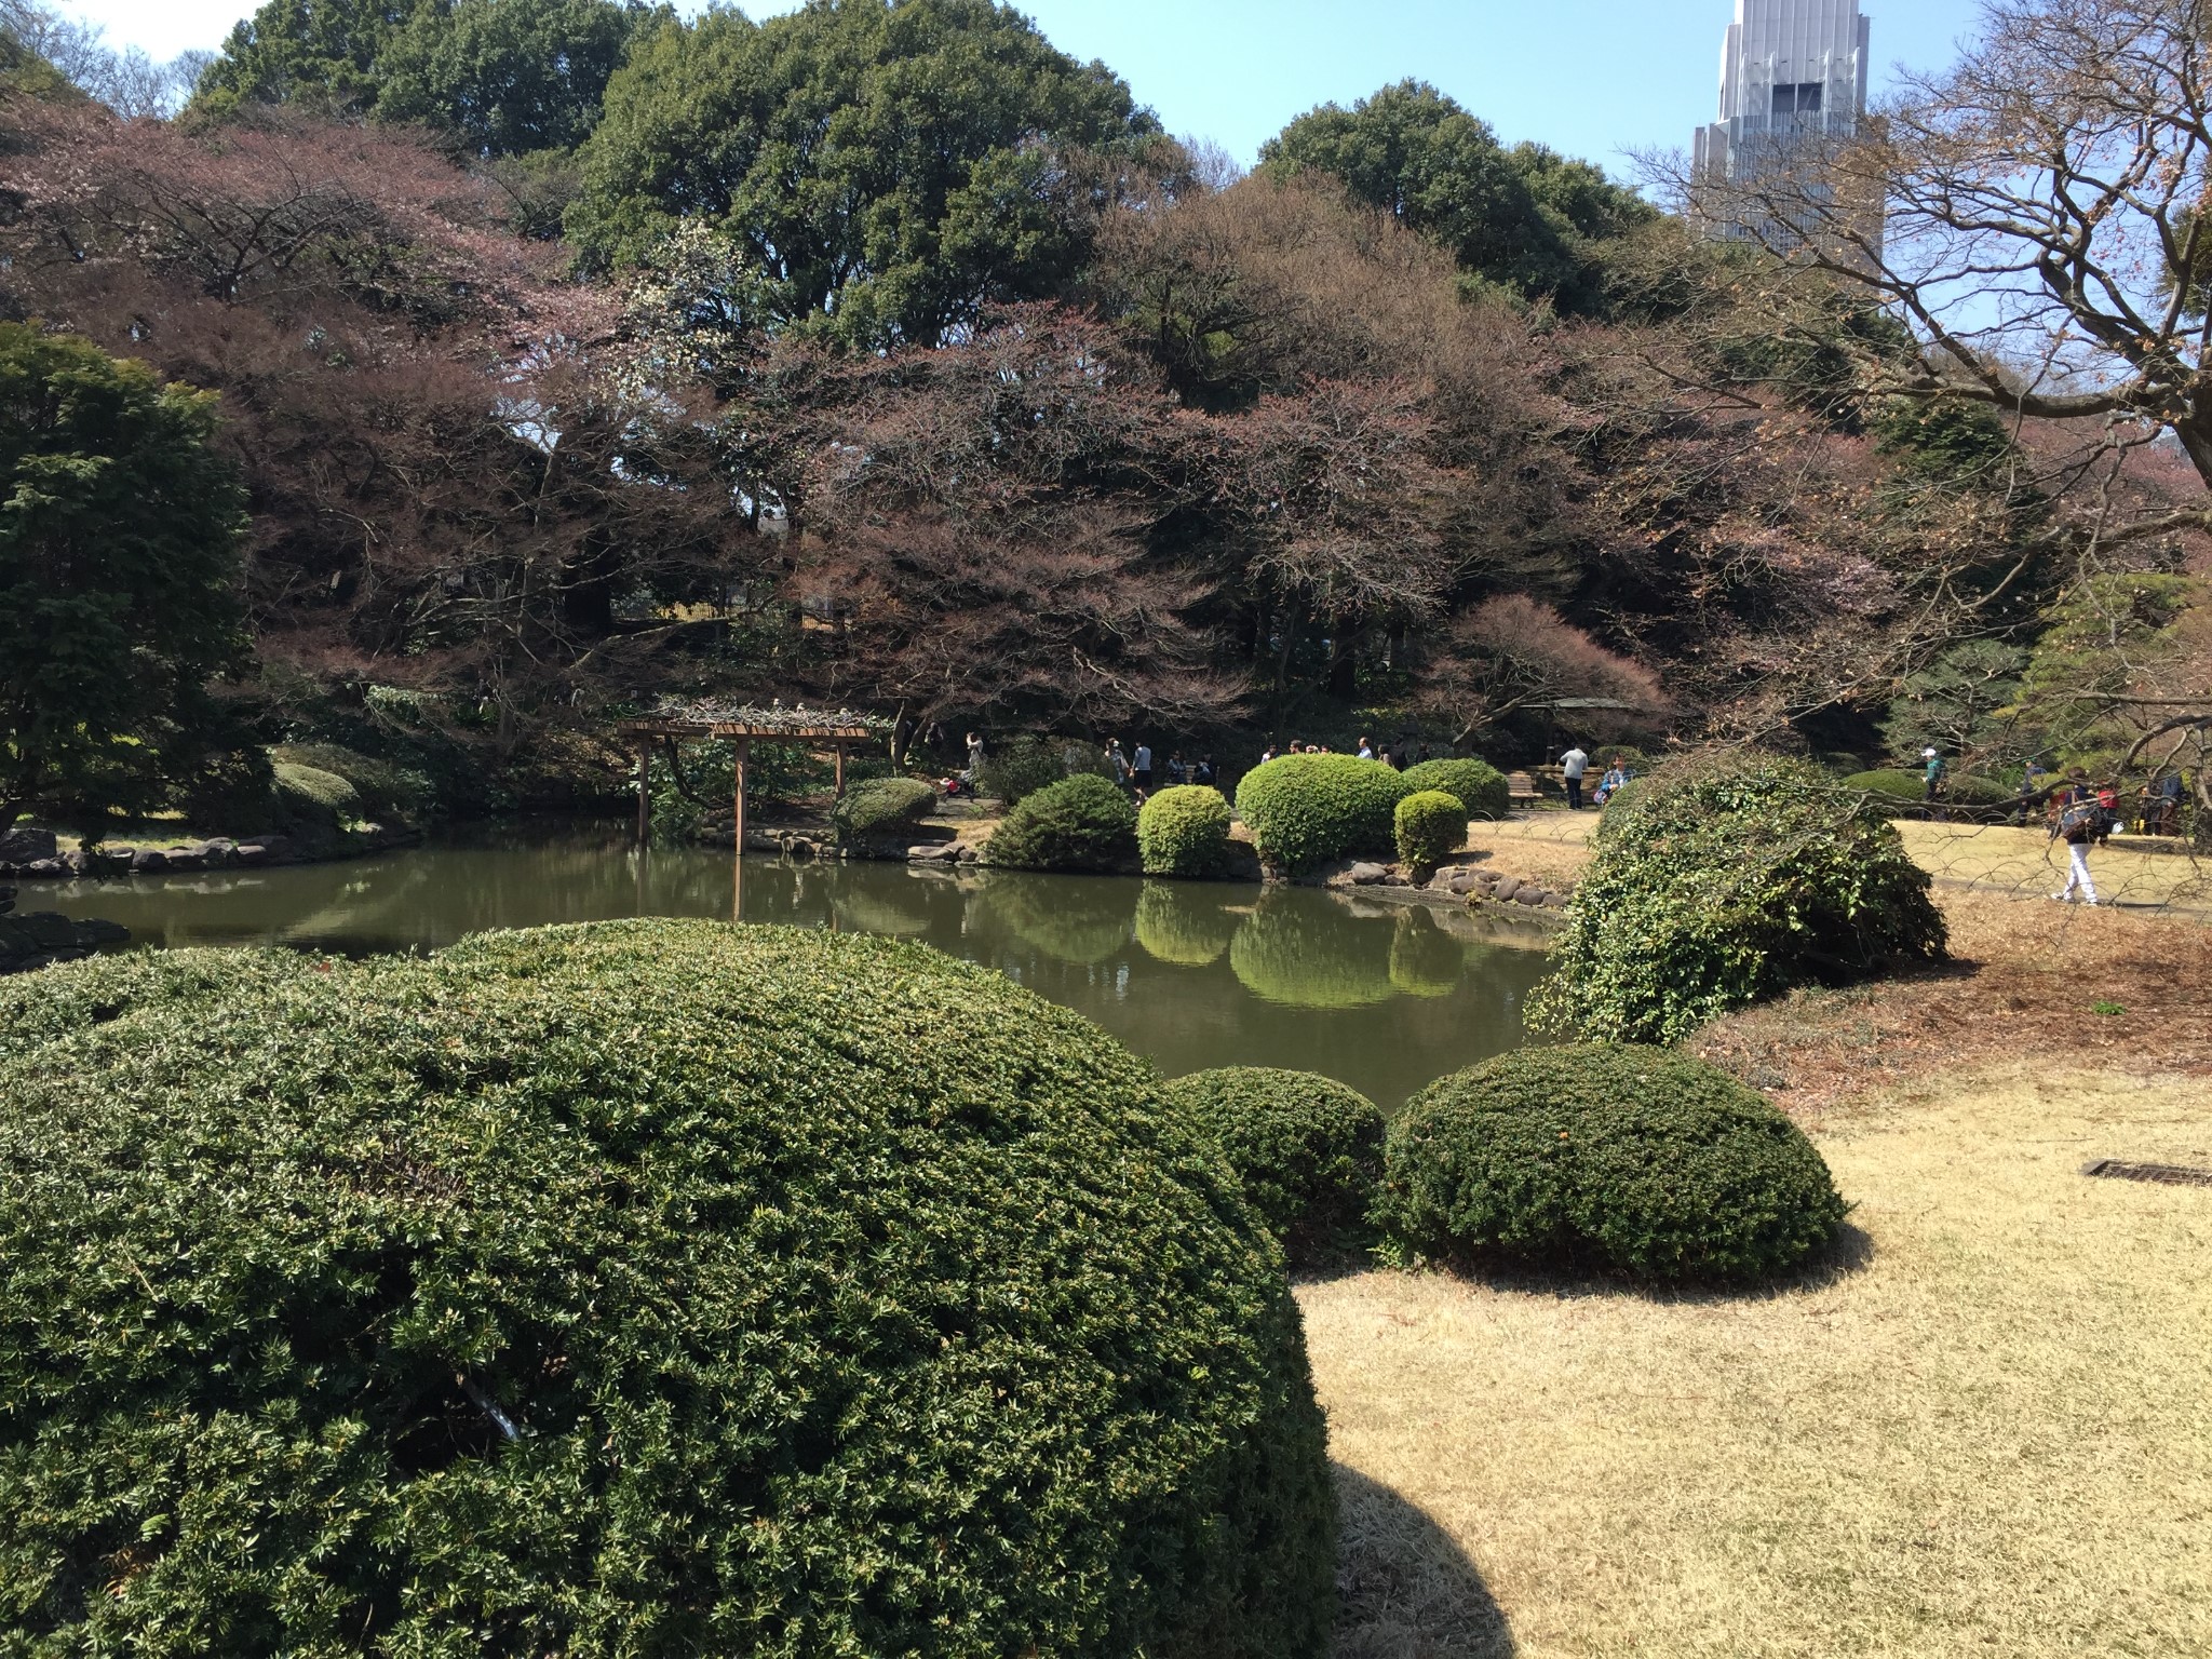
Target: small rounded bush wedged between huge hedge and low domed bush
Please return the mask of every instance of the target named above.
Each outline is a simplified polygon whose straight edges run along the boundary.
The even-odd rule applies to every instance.
[[[1221,1148],[1292,1256],[1365,1228],[1383,1179],[1383,1110],[1367,1095],[1310,1071],[1232,1066],[1177,1077],[1168,1099]]]

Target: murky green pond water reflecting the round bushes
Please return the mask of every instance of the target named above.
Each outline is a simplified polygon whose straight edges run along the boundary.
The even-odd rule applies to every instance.
[[[1522,1042],[1544,971],[1458,911],[1312,889],[639,852],[619,830],[471,836],[352,865],[139,876],[40,896],[155,945],[334,951],[451,945],[493,927],[717,916],[889,933],[998,969],[1097,1020],[1170,1077],[1294,1066],[1396,1106]]]

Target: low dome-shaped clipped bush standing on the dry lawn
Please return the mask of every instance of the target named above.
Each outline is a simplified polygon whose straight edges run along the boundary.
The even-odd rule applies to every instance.
[[[1416,1254],[1655,1281],[1796,1272],[1845,1214],[1796,1124],[1666,1048],[1522,1048],[1416,1095],[1378,1217]]]

